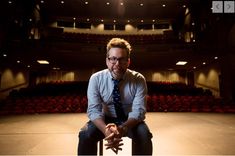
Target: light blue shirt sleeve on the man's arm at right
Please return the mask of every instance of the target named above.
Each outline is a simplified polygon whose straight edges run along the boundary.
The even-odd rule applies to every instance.
[[[146,99],[147,85],[145,78],[140,75],[136,79],[136,92],[132,103],[132,111],[129,113],[128,118],[134,118],[139,121],[145,119],[146,113]]]

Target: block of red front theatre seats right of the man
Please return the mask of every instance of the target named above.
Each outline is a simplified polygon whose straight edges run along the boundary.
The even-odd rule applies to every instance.
[[[235,112],[235,105],[211,95],[148,95],[149,112]]]

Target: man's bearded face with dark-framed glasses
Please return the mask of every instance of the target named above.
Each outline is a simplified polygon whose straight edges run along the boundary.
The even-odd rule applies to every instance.
[[[129,67],[130,59],[127,51],[121,48],[111,48],[106,58],[106,65],[114,79],[120,79]]]

